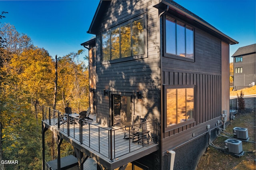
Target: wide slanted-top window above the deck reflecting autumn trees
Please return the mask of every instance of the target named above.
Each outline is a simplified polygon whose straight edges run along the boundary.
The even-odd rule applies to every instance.
[[[144,15],[138,16],[102,32],[103,62],[145,54],[145,18]]]

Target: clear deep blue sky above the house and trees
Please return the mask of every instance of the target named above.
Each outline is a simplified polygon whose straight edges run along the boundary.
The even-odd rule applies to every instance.
[[[239,47],[256,43],[256,0],[175,2],[238,41],[239,44],[230,45],[230,56]],[[19,33],[30,36],[35,46],[44,47],[52,57],[56,54],[62,57],[84,49],[80,43],[94,36],[86,32],[98,3],[99,0],[0,0],[0,12],[8,12],[0,22],[14,25]]]

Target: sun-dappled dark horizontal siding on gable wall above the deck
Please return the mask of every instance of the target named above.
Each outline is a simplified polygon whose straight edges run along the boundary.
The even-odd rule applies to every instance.
[[[146,16],[146,57],[125,62],[102,64],[101,32],[118,26],[136,16]],[[147,120],[160,118],[160,71],[158,46],[158,10],[152,7],[151,0],[112,1],[106,6],[106,14],[102,16],[96,34],[96,81],[97,81],[97,119],[102,125],[110,126],[111,95],[103,95],[106,89],[111,94],[130,93],[134,111]],[[136,99],[136,91],[142,93]],[[159,101],[159,102],[156,102]]]

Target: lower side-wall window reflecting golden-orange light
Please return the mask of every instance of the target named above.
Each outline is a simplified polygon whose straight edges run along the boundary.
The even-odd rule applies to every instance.
[[[194,87],[177,87],[165,91],[166,128],[194,119]]]

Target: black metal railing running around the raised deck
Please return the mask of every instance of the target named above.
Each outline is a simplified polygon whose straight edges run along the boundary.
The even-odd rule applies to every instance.
[[[132,141],[132,125],[124,128],[112,129],[101,127],[95,122],[87,122],[74,118],[66,113],[43,107],[43,121],[58,128],[67,136],[79,141],[80,144],[92,148],[112,161],[120,156],[134,152],[151,144],[158,143],[159,123],[157,119],[146,121],[149,131],[149,141],[137,144]],[[126,136],[129,136],[128,138]]]

